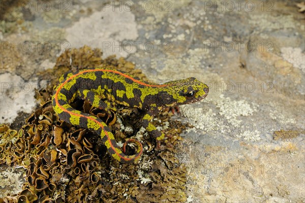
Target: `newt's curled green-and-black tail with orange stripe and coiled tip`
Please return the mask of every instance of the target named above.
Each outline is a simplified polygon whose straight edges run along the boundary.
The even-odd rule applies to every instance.
[[[56,91],[52,97],[53,109],[55,113],[58,114],[59,118],[72,125],[88,128],[89,130],[93,130],[100,134],[102,141],[107,147],[108,153],[121,163],[132,163],[138,161],[143,152],[142,144],[139,141],[134,139],[128,140],[123,146],[123,151],[121,151],[106,123],[95,116],[73,109],[69,105],[65,94],[60,92],[60,90],[62,90],[62,86],[63,84],[56,88]],[[124,153],[128,143],[136,144],[137,151],[134,155],[126,155]]]

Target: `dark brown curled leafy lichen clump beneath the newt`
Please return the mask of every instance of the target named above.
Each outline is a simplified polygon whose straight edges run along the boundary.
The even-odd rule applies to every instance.
[[[87,101],[72,106],[103,119],[116,140],[124,143],[131,136],[141,139],[144,153],[138,163],[121,164],[107,154],[99,135],[59,120],[50,102],[60,75],[69,70],[107,67],[147,80],[134,64],[123,58],[101,58],[98,49],[84,46],[63,53],[53,69],[41,73],[50,85],[36,91],[41,107],[17,130],[0,126],[0,164],[26,168],[23,190],[0,198],[0,202],[185,202],[186,168],[175,157],[175,148],[156,151],[156,142],[137,123],[141,112],[118,106],[107,119],[105,112]],[[158,115],[156,125],[167,125],[177,145],[184,126],[171,121],[171,113]],[[161,122],[159,121],[161,120]],[[128,153],[133,153],[132,147]]]

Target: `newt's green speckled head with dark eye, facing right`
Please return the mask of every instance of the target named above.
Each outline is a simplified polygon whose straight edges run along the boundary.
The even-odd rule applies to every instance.
[[[191,104],[205,98],[208,86],[196,78],[187,78],[164,83],[166,85],[158,94],[162,107]]]

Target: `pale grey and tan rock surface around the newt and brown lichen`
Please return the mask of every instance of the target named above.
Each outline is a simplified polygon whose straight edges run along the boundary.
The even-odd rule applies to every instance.
[[[157,83],[196,77],[209,85],[203,101],[172,118],[194,126],[178,154],[188,166],[188,202],[304,202],[305,28],[298,3],[75,1],[65,12],[14,11],[0,31],[1,123],[35,106],[34,88],[25,96],[5,91],[5,83],[35,83],[65,49],[97,47],[127,57]],[[22,107],[11,107],[20,100]]]

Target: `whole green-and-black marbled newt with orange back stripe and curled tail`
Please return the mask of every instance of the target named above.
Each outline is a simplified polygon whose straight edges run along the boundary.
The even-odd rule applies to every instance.
[[[92,106],[104,109],[108,113],[115,110],[115,104],[143,110],[145,114],[141,124],[150,136],[156,138],[160,146],[160,142],[167,136],[151,124],[153,117],[163,108],[194,103],[208,93],[208,86],[195,78],[158,85],[144,82],[124,72],[108,69],[68,72],[60,77],[59,82],[52,97],[55,113],[60,119],[72,125],[88,128],[100,134],[108,153],[122,163],[136,162],[142,154],[142,144],[130,139],[125,142],[121,151],[106,123],[96,116],[73,109],[70,106],[73,100],[87,99]],[[136,144],[137,151],[134,155],[126,155],[126,145],[131,142]]]

